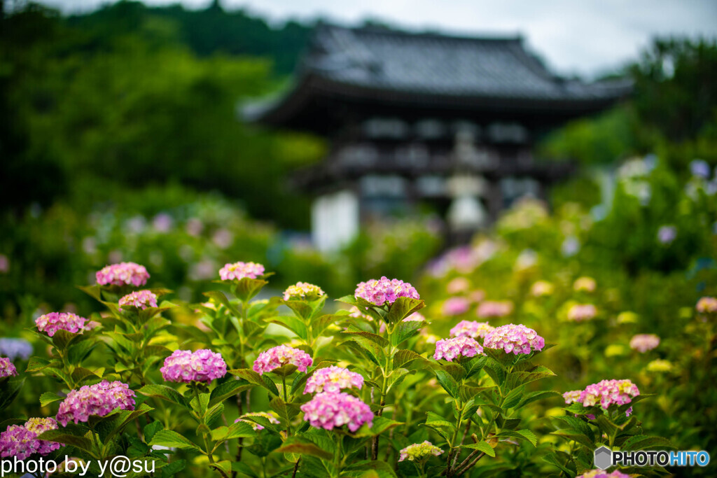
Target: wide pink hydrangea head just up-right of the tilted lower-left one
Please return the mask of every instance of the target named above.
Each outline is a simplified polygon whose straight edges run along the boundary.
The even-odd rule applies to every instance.
[[[159,371],[167,382],[209,383],[227,375],[227,363],[222,355],[206,348],[196,352],[174,350],[172,355],[164,359],[164,366]]]

